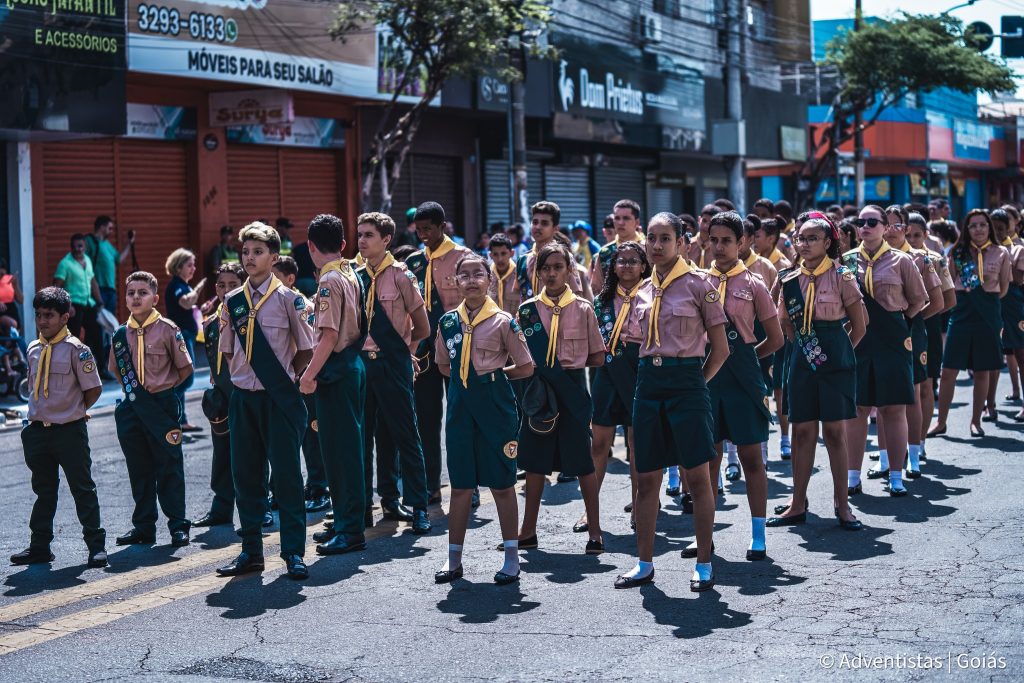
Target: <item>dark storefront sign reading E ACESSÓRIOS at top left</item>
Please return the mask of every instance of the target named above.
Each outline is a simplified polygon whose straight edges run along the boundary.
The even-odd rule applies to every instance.
[[[0,128],[121,134],[125,5],[0,3]]]

